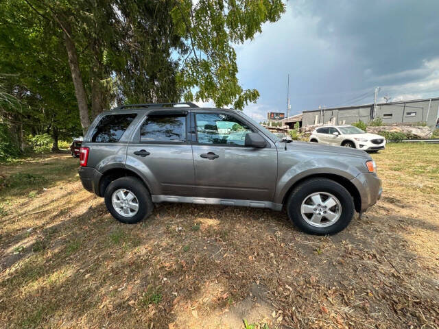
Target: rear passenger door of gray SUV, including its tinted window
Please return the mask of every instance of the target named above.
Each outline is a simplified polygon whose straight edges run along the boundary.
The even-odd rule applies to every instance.
[[[128,145],[126,165],[139,172],[153,195],[193,196],[193,159],[186,110],[147,113]]]

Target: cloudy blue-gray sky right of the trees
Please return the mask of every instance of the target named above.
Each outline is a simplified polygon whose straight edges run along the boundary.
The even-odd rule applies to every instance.
[[[237,48],[239,80],[257,88],[258,121],[318,106],[439,97],[439,0],[287,1],[280,21]]]

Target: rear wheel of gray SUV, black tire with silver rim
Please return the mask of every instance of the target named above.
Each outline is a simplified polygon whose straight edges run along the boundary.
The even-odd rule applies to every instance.
[[[121,193],[123,197],[120,197]],[[131,199],[128,202],[131,195],[134,195],[135,199]],[[113,197],[115,198],[114,202]],[[145,187],[145,184],[141,180],[130,176],[113,180],[107,186],[104,198],[107,209],[112,217],[126,224],[134,224],[146,219],[154,209],[150,192]],[[115,208],[116,204],[120,204],[121,207]],[[135,204],[137,204],[137,210],[135,210]],[[125,215],[121,215],[121,212]]]

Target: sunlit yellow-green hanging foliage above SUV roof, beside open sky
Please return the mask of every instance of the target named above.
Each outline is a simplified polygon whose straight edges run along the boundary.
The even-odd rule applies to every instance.
[[[256,101],[257,90],[244,90],[239,85],[233,46],[252,40],[262,31],[263,23],[278,21],[283,12],[281,0],[178,1],[171,16],[176,33],[187,45],[187,56],[182,56],[176,77],[185,100],[212,99],[216,106],[233,104],[240,110]]]

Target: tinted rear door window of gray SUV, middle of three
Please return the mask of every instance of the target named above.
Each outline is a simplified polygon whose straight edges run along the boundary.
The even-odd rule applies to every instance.
[[[150,115],[140,128],[140,141],[184,143],[186,119],[186,114]]]

